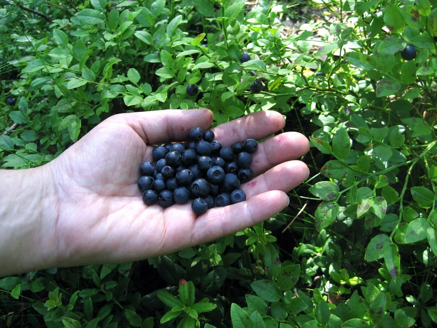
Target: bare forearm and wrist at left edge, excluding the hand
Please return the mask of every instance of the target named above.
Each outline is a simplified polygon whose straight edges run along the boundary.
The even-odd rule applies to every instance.
[[[55,265],[57,202],[48,166],[0,170],[0,277]]]

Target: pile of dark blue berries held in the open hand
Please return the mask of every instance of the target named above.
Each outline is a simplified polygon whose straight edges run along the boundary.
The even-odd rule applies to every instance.
[[[199,127],[191,130],[190,137],[190,142],[153,148],[155,166],[141,164],[138,188],[143,202],[169,207],[194,199],[191,209],[200,215],[215,206],[245,201],[240,183],[253,178],[251,154],[258,149],[257,141],[248,139],[222,147],[214,140],[214,132],[204,133]]]

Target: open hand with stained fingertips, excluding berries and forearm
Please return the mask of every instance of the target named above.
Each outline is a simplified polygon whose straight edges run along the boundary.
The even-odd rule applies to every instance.
[[[49,163],[57,217],[47,226],[59,265],[119,263],[153,257],[252,226],[288,204],[289,191],[308,176],[308,151],[300,133],[282,133],[253,154],[253,180],[242,185],[247,200],[196,216],[191,204],[146,206],[137,187],[139,165],[152,161],[153,145],[187,140],[195,126],[208,129],[212,112],[166,110],[114,115]],[[262,139],[284,126],[282,115],[264,111],[213,129],[225,145]]]

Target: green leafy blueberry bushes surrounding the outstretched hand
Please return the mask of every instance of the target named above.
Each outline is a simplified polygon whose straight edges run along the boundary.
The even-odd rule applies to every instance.
[[[162,108],[214,125],[275,110],[312,144],[283,213],[167,256],[0,279],[0,327],[436,325],[437,1],[0,6],[2,168]]]

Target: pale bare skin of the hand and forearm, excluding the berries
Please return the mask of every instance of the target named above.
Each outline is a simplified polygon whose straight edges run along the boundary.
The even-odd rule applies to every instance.
[[[247,199],[196,216],[191,204],[146,206],[139,165],[153,145],[187,140],[206,130],[212,112],[165,110],[111,116],[58,158],[41,167],[0,170],[0,276],[49,267],[123,263],[169,254],[250,227],[288,205],[286,192],[305,181],[296,160],[309,150],[300,133],[259,144]],[[256,112],[214,129],[225,145],[260,140],[281,130],[282,115]]]

